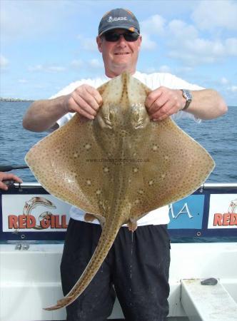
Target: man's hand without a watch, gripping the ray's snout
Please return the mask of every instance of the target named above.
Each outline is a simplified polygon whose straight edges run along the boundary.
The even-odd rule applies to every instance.
[[[77,112],[81,116],[94,119],[102,104],[102,97],[96,88],[81,85],[65,97],[64,106],[70,113]]]

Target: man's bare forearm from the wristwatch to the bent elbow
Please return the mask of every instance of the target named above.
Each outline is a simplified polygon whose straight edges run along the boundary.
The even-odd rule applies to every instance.
[[[223,115],[228,110],[223,98],[213,89],[203,89],[191,93],[193,99],[186,111],[197,118],[213,119]]]

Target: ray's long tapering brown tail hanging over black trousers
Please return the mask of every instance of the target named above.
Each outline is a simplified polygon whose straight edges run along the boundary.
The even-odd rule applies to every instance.
[[[96,272],[101,267],[101,264],[104,262],[106,255],[109,253],[120,227],[121,224],[116,221],[107,221],[104,224],[96,250],[79,280],[63,299],[59,300],[54,306],[45,307],[44,310],[51,311],[61,309],[61,307],[66,307],[74,302],[74,300],[84,292],[93,277],[96,275]]]

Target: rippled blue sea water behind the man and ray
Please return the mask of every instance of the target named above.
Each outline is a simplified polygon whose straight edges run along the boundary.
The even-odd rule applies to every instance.
[[[33,133],[22,127],[22,118],[30,102],[0,101],[0,164],[25,165],[24,157],[29,149],[48,133]],[[229,107],[228,113],[211,121],[196,123],[189,119],[177,122],[211,154],[216,168],[208,183],[237,183],[237,107]],[[183,164],[185,165],[185,164]],[[14,170],[24,182],[36,179],[29,169]]]

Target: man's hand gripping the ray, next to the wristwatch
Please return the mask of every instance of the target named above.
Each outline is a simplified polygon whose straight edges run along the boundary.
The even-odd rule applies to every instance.
[[[153,121],[162,121],[181,111],[186,104],[182,91],[159,87],[148,94],[145,101],[148,114]]]

